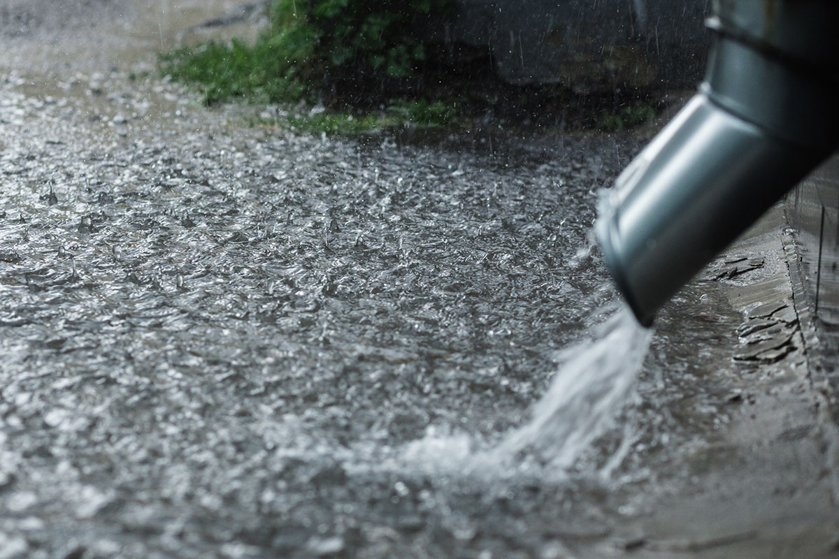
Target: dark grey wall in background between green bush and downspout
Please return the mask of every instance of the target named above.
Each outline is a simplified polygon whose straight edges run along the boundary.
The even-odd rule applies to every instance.
[[[692,87],[705,67],[709,12],[708,0],[458,0],[443,33],[491,50],[511,83]]]

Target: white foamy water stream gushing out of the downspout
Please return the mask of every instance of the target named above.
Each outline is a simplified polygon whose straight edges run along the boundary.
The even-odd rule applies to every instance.
[[[401,468],[426,473],[491,477],[515,474],[534,464],[565,472],[614,426],[632,399],[649,337],[649,330],[635,321],[628,308],[622,308],[591,339],[560,352],[550,389],[534,406],[532,418],[508,432],[501,443],[481,448],[469,434],[430,428],[425,437],[400,448],[396,462]],[[626,453],[624,447],[620,446],[618,454]],[[608,471],[617,466],[616,460],[620,457],[607,461]]]

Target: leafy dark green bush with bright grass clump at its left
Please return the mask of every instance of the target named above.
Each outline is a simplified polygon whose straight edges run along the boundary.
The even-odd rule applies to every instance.
[[[271,27],[256,44],[239,40],[180,48],[160,57],[165,74],[201,87],[208,104],[251,101],[337,102],[325,91],[386,95],[393,80],[425,60],[417,34],[453,0],[277,0]],[[340,97],[340,96],[338,96]]]

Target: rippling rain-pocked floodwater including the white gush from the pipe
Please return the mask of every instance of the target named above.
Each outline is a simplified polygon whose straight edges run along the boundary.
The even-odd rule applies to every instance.
[[[0,79],[0,556],[558,557],[638,511],[649,334],[590,238],[638,140],[39,64]]]

